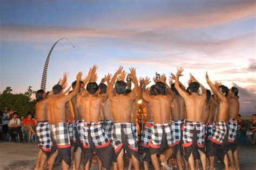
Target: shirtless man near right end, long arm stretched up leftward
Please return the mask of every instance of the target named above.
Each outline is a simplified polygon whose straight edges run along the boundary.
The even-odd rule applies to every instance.
[[[210,159],[210,169],[214,169],[214,156],[220,159],[225,165],[225,169],[228,169],[228,158],[226,155],[227,150],[227,139],[228,139],[228,127],[227,119],[230,113],[230,103],[227,99],[228,88],[226,86],[214,86],[209,80],[206,73],[206,81],[213,93],[220,99],[218,108],[217,121],[215,121],[215,128],[212,134],[208,137],[207,143],[207,157]]]

